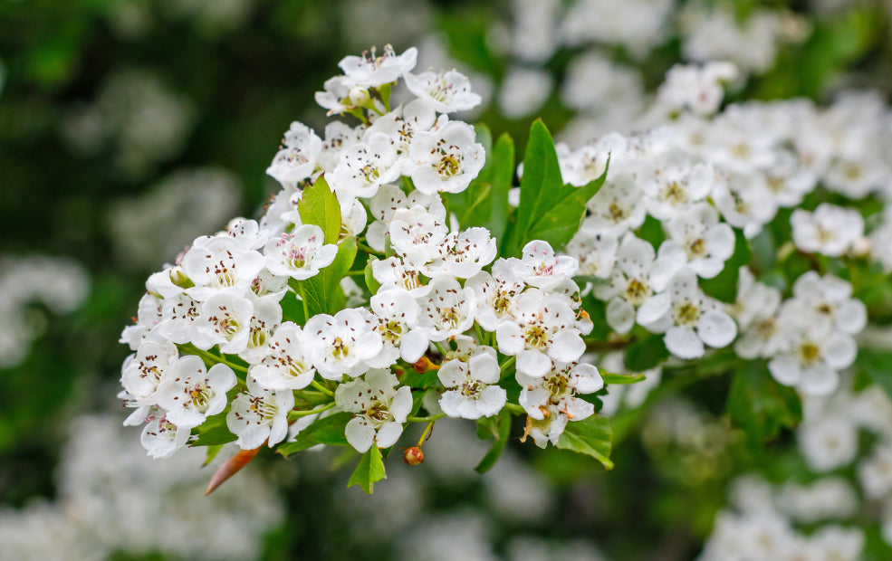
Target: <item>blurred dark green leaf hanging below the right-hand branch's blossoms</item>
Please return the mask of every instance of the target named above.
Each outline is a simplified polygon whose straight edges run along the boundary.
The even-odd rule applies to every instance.
[[[752,452],[762,455],[764,442],[782,427],[801,421],[799,396],[791,387],[778,384],[764,360],[748,361],[734,373],[728,392],[727,411],[743,429]]]

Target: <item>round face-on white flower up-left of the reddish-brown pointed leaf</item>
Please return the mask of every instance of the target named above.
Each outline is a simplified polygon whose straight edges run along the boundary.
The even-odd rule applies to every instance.
[[[205,363],[194,355],[180,357],[168,366],[158,385],[158,405],[177,427],[192,428],[205,422],[226,406],[226,392],[235,386],[235,373],[229,366]]]

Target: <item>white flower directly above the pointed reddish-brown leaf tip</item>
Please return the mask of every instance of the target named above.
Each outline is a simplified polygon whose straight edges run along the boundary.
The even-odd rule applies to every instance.
[[[236,436],[242,450],[264,445],[272,448],[288,434],[288,412],[294,407],[294,394],[287,390],[268,390],[247,376],[248,391],[233,399],[226,414],[226,428]]]

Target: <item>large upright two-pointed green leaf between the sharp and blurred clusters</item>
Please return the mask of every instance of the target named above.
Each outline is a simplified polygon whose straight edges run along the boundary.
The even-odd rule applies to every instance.
[[[523,155],[521,204],[508,248],[511,253],[517,254],[532,240],[549,242],[555,250],[570,242],[585,217],[585,204],[606,178],[605,170],[589,185],[564,185],[552,135],[541,119],[534,121]]]

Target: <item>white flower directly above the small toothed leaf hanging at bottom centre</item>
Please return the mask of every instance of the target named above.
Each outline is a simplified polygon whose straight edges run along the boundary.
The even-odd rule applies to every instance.
[[[366,452],[372,442],[379,448],[393,446],[403,433],[403,423],[412,411],[412,390],[406,385],[394,389],[397,384],[397,376],[372,369],[365,379],[351,380],[335,391],[335,403],[354,414],[345,434],[357,452]]]

